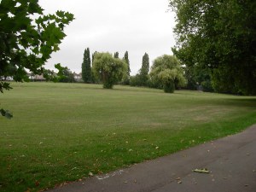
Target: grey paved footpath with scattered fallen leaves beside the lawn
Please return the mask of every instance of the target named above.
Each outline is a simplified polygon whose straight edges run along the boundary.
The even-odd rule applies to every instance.
[[[207,168],[210,173],[192,172]],[[256,125],[130,168],[48,192],[256,192]]]

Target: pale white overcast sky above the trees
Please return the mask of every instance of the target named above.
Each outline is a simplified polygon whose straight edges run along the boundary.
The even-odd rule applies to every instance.
[[[114,53],[122,58],[129,53],[131,74],[142,66],[143,55],[152,61],[164,54],[172,55],[175,44],[172,28],[174,14],[168,12],[168,0],[39,0],[44,13],[65,10],[75,16],[66,27],[67,37],[61,50],[52,54],[46,67],[61,62],[73,72],[81,72],[84,49]]]

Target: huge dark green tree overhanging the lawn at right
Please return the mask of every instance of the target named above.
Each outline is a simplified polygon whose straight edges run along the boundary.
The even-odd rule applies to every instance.
[[[256,2],[171,0],[173,52],[187,67],[209,69],[216,91],[256,94]]]

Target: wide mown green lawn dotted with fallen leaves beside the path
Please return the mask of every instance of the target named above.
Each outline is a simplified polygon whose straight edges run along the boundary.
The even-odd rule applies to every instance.
[[[256,97],[96,84],[12,84],[0,190],[38,191],[151,160],[256,123]]]

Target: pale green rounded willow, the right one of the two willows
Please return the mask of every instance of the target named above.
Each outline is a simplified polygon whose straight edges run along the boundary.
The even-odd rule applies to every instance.
[[[153,61],[150,78],[155,88],[168,93],[186,84],[181,63],[172,55],[162,55]]]

